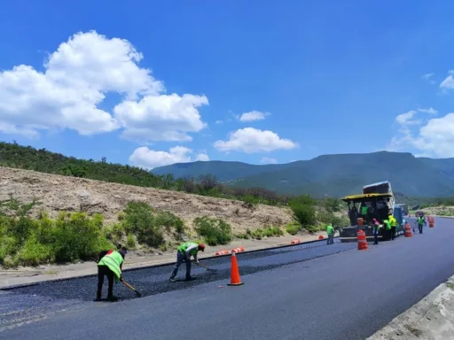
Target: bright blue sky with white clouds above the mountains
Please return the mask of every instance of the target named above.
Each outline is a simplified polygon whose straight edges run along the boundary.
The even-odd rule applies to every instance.
[[[454,157],[454,4],[364,3],[1,4],[0,139],[149,168]]]

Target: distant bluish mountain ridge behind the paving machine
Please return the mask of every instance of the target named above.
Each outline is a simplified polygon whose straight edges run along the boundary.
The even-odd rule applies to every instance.
[[[416,158],[409,152],[322,155],[264,166],[197,161],[161,166],[152,173],[176,178],[214,174],[229,185],[313,197],[343,197],[361,192],[365,184],[389,180],[395,192],[409,197],[454,197],[454,158]]]

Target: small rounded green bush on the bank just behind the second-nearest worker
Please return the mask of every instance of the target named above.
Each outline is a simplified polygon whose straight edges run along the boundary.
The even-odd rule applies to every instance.
[[[221,219],[207,216],[194,219],[194,228],[209,245],[227,244],[231,242],[231,225]]]

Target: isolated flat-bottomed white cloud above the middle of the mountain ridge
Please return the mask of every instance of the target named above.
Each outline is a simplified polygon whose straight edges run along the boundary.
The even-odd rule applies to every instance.
[[[283,139],[273,131],[256,128],[240,128],[229,135],[227,141],[216,141],[219,151],[243,151],[246,153],[270,152],[278,149],[294,149],[297,143]]]

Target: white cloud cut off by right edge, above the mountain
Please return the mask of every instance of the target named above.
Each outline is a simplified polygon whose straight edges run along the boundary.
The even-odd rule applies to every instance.
[[[413,112],[412,115],[408,113],[403,113],[407,114],[404,117],[399,115],[400,119],[396,118],[400,124],[399,134],[392,138],[387,150],[403,151],[411,148],[418,150],[420,155],[440,158],[454,157],[454,148],[452,148],[454,145],[454,113],[428,120],[412,120],[416,112]],[[409,121],[411,121],[411,127]]]

